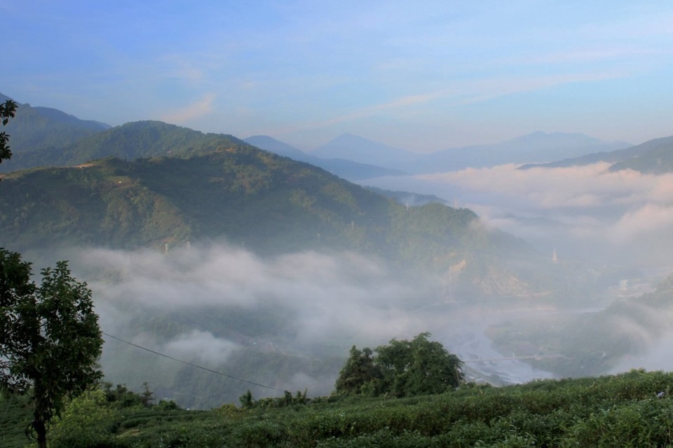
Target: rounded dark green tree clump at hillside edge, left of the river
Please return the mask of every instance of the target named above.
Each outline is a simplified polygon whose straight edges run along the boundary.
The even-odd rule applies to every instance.
[[[411,341],[392,339],[388,345],[358,350],[353,346],[335,384],[338,395],[397,397],[442,393],[463,380],[463,362],[423,332]]]

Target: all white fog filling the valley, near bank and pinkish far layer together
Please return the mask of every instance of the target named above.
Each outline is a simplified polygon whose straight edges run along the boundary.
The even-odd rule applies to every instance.
[[[475,381],[512,384],[559,377],[563,375],[529,365],[531,356],[505,359],[526,353],[498,351],[489,327],[596,314],[653,290],[673,272],[667,237],[673,223],[673,175],[609,172],[608,167],[520,170],[505,165],[363,182],[433,194],[451,206],[473,209],[486,225],[531,242],[550,258],[556,251],[559,263],[582,262],[587,269],[616,266],[627,273],[621,282],[614,279],[598,291],[587,290],[569,304],[497,297],[486,302],[473,297],[447,300],[440,275],[400,272],[387,260],[316,251],[261,258],[226,242],[175,247],[165,254],[77,249],[81,252],[73,267],[94,290],[104,332],[238,378],[203,372],[229,391],[216,394],[215,400],[236,401],[247,388],[257,396],[305,388],[309,395],[327,395],[353,344],[373,348],[424,331],[466,360],[465,370]],[[637,346],[637,354],[615,355],[610,372],[672,368],[668,342],[673,314],[646,307],[636,314],[638,318],[607,318],[613,331],[609,337],[624,337]],[[567,359],[545,354],[559,355],[559,363]],[[305,370],[301,363],[277,372],[238,368],[242,357],[256,356],[301,359],[323,368]],[[129,372],[128,362],[142,363],[142,377]],[[185,392],[175,383],[162,384],[195,367],[111,337],[106,338],[102,365],[110,381],[138,388],[154,379],[154,387],[167,398],[213,405],[181,396]],[[581,370],[573,371],[576,375]]]

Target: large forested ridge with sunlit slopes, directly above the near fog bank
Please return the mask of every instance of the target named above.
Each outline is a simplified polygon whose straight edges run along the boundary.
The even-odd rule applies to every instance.
[[[468,209],[407,209],[237,139],[204,142],[185,158],[107,158],[7,174],[0,246],[163,248],[224,238],[260,253],[354,250],[440,272],[467,260],[464,275],[476,269],[477,283],[486,265],[538,256],[524,241],[477,225]]]

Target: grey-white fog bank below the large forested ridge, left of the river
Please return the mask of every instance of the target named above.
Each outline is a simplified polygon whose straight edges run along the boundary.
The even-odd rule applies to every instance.
[[[246,347],[345,357],[353,344],[376,346],[443,324],[423,311],[440,297],[438,280],[402,274],[352,252],[261,258],[227,244],[193,244],[168,255],[90,248],[74,260],[74,269],[89,273],[82,278],[94,292],[104,332],[209,369],[228,370],[232,356]],[[218,320],[232,313],[257,328]],[[118,359],[123,350],[138,349],[118,342],[113,348],[114,355],[104,351],[104,370],[132,370]],[[304,379],[329,393],[337,374],[295,372],[283,387]]]

